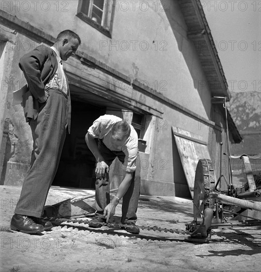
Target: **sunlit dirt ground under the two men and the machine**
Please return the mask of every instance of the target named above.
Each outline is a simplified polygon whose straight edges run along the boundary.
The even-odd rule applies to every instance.
[[[141,230],[133,235],[83,223],[63,223],[29,235],[9,228],[20,191],[21,187],[0,186],[1,272],[261,271],[261,227],[214,229],[206,244],[187,242],[186,234]],[[52,186],[46,204],[91,193]],[[141,196],[137,225],[185,230],[192,211],[188,199]],[[120,216],[119,205],[112,221],[119,222]]]

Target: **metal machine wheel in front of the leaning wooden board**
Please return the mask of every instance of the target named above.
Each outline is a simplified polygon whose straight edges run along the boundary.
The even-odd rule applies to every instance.
[[[193,195],[193,215],[194,221],[200,222],[204,213],[210,213],[209,209],[214,209],[215,199],[210,198],[209,193],[215,191],[215,175],[211,160],[201,159],[198,161]],[[207,210],[206,210],[207,209]],[[211,222],[205,225],[211,226]]]

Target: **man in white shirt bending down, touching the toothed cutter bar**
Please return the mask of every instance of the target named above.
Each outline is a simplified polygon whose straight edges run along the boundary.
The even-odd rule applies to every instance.
[[[98,138],[98,145],[95,138]],[[127,121],[114,115],[100,116],[93,122],[85,136],[86,143],[96,158],[96,218],[89,223],[90,227],[101,227],[109,222],[115,213],[119,200],[122,201],[121,223],[128,232],[139,233],[135,225],[140,195],[140,158],[138,155],[138,135]],[[118,158],[124,170],[115,197],[110,203],[109,169],[112,161]],[[136,177],[135,177],[136,174]]]

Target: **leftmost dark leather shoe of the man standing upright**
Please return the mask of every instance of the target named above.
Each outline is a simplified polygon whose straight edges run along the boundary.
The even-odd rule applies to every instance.
[[[44,231],[44,227],[36,224],[32,218],[25,215],[14,214],[11,219],[11,229],[24,233],[39,233]]]

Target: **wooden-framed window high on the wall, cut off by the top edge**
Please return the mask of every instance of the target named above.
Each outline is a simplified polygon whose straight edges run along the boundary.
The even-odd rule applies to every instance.
[[[99,23],[96,23],[94,20],[92,20],[88,15],[90,14],[92,8],[90,8],[89,5],[89,10],[88,10],[88,15],[85,14],[82,11],[83,8],[83,1],[86,0],[79,0],[78,1],[78,7],[77,7],[77,14],[76,16],[79,17],[82,21],[84,21],[85,23],[89,24],[90,26],[94,27],[95,29],[97,29],[99,32],[101,32],[102,34],[104,34],[105,36],[112,38],[112,20],[113,20],[113,15],[114,15],[114,6],[115,6],[115,0],[108,0],[111,1],[112,4],[107,5],[107,10],[104,10],[103,13],[103,17],[102,17],[102,23],[104,22],[104,18],[108,17],[108,15],[110,15],[110,19],[109,19],[109,26],[108,29],[106,29],[104,26],[102,26]],[[93,4],[93,0],[88,0],[89,4]],[[106,0],[105,0],[106,1]],[[106,8],[106,7],[105,7]],[[108,8],[111,8],[111,11],[108,11]],[[110,12],[110,13],[109,13]],[[107,14],[106,14],[107,13]]]

